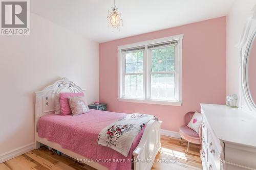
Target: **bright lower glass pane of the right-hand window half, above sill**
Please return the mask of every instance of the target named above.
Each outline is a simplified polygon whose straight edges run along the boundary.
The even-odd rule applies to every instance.
[[[175,75],[151,75],[151,99],[175,100]]]

